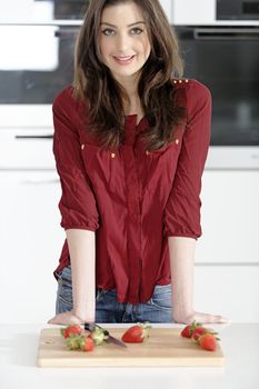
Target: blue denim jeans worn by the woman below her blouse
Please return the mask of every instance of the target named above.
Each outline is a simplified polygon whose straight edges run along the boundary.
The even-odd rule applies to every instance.
[[[59,275],[56,315],[72,309],[71,267]],[[138,305],[118,302],[116,289],[97,289],[96,322],[173,322],[171,307],[171,285],[157,285],[151,299]]]

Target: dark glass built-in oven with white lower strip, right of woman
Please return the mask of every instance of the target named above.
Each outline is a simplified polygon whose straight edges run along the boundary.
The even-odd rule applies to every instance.
[[[212,93],[210,169],[259,168],[259,26],[177,26],[186,76]]]

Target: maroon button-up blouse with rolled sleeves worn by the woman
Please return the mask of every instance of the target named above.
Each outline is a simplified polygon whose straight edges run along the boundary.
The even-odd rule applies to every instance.
[[[124,142],[102,149],[87,133],[72,87],[53,102],[53,153],[62,196],[61,227],[96,231],[97,287],[119,302],[148,301],[170,283],[168,237],[199,238],[201,176],[210,141],[211,94],[197,80],[175,80],[187,120],[176,139],[145,151],[148,127],[126,117]],[[67,239],[54,276],[70,263]]]

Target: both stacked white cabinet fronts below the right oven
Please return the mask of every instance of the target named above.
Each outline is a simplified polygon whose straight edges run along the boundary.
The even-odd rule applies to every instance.
[[[259,321],[259,171],[206,170],[196,309]]]

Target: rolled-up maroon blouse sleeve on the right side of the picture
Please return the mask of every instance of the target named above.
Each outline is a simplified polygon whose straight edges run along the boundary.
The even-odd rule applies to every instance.
[[[188,117],[173,184],[165,208],[165,231],[168,237],[198,239],[202,233],[200,191],[210,143],[211,94],[196,80],[179,92],[186,93]]]

